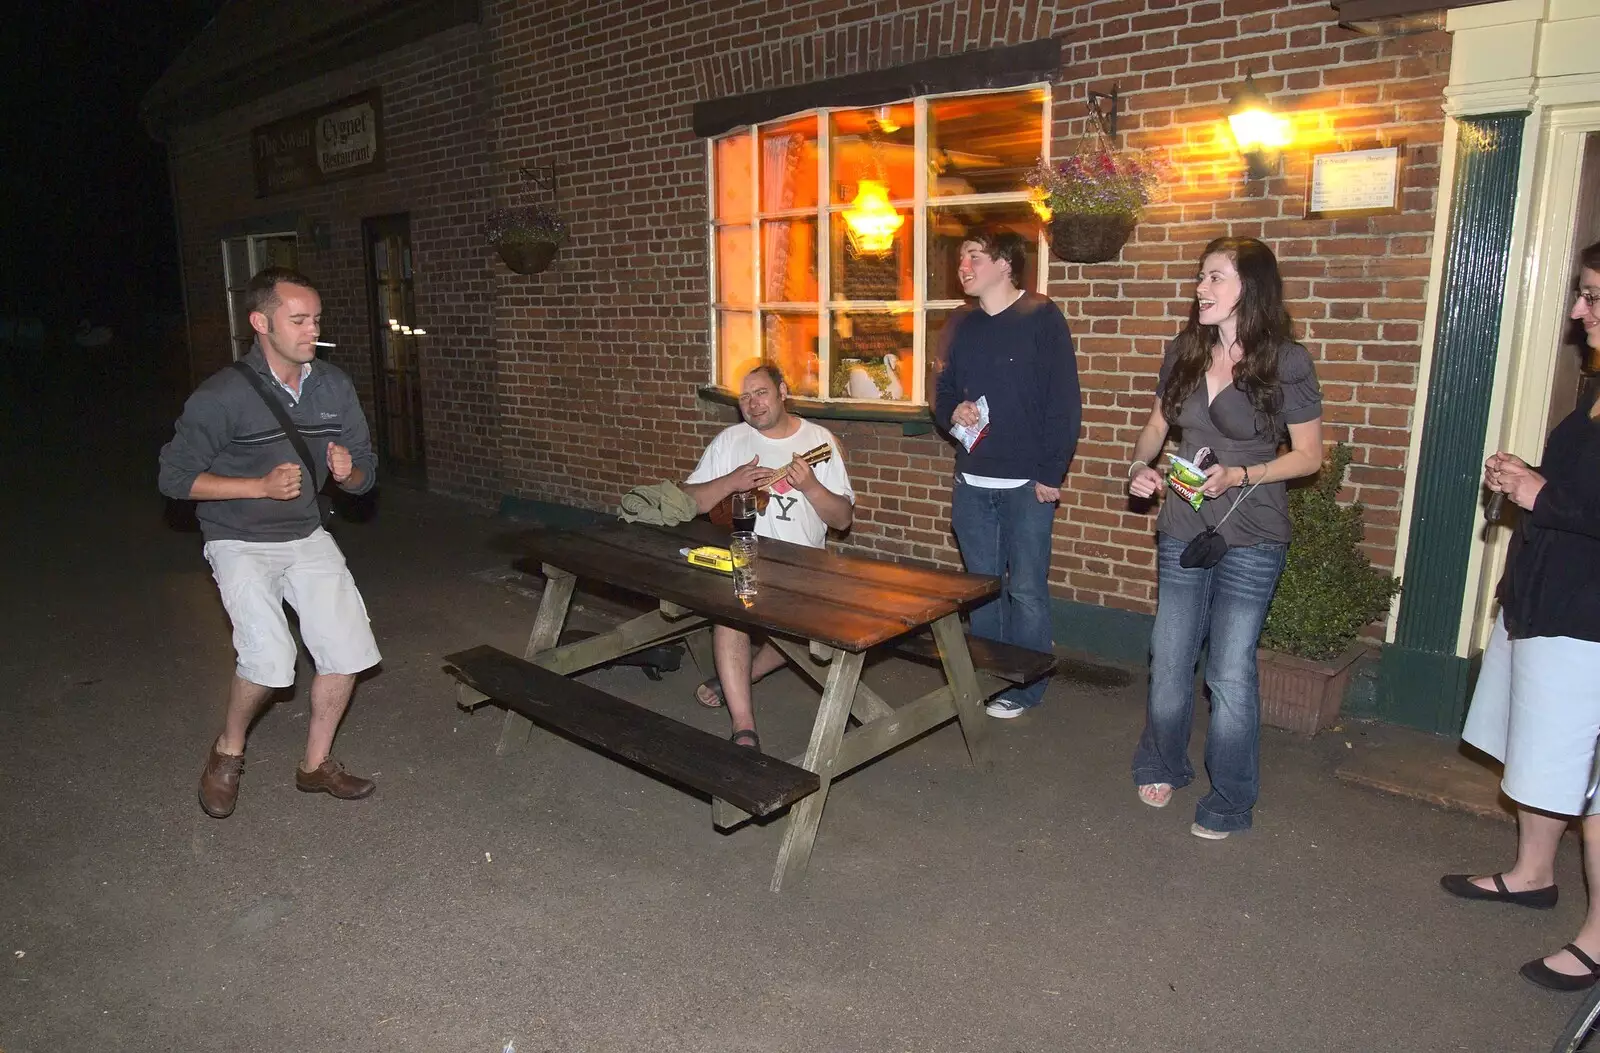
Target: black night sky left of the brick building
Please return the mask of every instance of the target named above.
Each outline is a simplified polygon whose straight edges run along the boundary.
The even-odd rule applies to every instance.
[[[0,314],[59,331],[182,310],[165,149],[139,99],[222,0],[66,0],[0,22]]]

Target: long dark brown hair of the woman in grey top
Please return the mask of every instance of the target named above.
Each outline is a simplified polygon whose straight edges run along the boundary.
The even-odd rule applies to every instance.
[[[1238,270],[1238,344],[1245,354],[1234,365],[1234,387],[1250,397],[1256,416],[1266,422],[1278,411],[1278,350],[1291,339],[1278,259],[1256,238],[1216,238],[1200,253],[1202,267],[1213,253],[1227,253]],[[1205,382],[1216,341],[1218,326],[1200,325],[1200,299],[1195,298],[1189,304],[1189,325],[1173,341],[1178,360],[1162,392],[1162,416],[1168,424],[1178,422],[1184,402]]]

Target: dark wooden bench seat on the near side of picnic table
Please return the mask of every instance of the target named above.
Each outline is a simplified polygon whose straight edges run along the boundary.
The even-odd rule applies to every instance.
[[[565,731],[750,815],[778,811],[821,786],[813,771],[734,746],[494,647],[446,655],[445,663],[453,677],[541,727]]]

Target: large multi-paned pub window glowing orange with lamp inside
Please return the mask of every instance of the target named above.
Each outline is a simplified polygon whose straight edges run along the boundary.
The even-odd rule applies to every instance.
[[[933,349],[966,301],[971,226],[1042,232],[1022,184],[1048,157],[1048,85],[818,109],[709,142],[712,384],[760,362],[802,400],[926,405]],[[803,410],[803,405],[802,405]]]

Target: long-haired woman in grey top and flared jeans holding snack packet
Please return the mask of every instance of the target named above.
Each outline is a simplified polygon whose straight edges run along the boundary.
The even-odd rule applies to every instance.
[[[1218,238],[1205,246],[1189,325],[1166,349],[1155,406],[1133,446],[1128,493],[1134,498],[1162,490],[1165,480],[1149,462],[1171,429],[1179,430],[1179,456],[1197,461],[1210,448],[1216,462],[1205,472],[1198,510],[1168,496],[1155,520],[1150,698],[1133,781],[1152,808],[1165,808],[1173,791],[1194,781],[1194,671],[1210,635],[1205,767],[1211,792],[1195,805],[1189,831],[1219,840],[1250,827],[1259,789],[1256,640],[1290,539],[1283,482],[1322,467],[1317,373],[1290,336],[1278,261],[1254,238]],[[1211,567],[1182,567],[1184,549],[1206,528],[1218,528],[1227,552]]]

